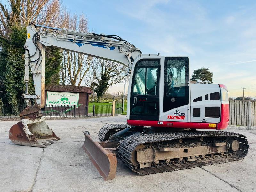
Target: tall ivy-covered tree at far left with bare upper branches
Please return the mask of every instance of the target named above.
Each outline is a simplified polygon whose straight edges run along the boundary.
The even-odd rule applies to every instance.
[[[25,92],[24,83],[24,44],[26,26],[32,21],[40,25],[60,27],[59,0],[8,0],[0,3],[0,89],[2,101],[11,104],[14,111],[22,104],[21,94]],[[58,21],[58,22],[57,22]],[[59,83],[61,54],[58,49],[46,48],[45,82]],[[31,75],[31,74],[30,74]],[[30,76],[30,94],[34,92]]]

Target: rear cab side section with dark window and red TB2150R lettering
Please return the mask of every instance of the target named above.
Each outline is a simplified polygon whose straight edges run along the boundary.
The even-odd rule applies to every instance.
[[[189,121],[189,59],[165,57],[161,77],[160,121]],[[163,82],[163,83],[162,83]]]

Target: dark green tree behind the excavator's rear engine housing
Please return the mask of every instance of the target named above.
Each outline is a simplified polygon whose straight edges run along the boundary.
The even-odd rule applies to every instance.
[[[201,79],[203,83],[212,84],[213,73],[210,71],[209,67],[205,68],[204,66],[200,69],[194,70],[191,80],[197,81]]]

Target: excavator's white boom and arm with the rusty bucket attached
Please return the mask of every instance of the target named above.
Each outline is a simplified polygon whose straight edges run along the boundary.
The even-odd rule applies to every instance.
[[[37,30],[38,28],[43,30]],[[46,147],[60,138],[45,123],[42,116],[45,83],[45,47],[52,46],[63,50],[111,60],[130,68],[133,58],[141,51],[116,35],[86,33],[69,29],[52,28],[29,23],[25,49],[25,99],[27,107],[20,113],[21,120],[9,131],[13,143],[26,146]],[[29,73],[33,75],[35,95],[28,92]],[[30,106],[29,100],[36,104]]]

